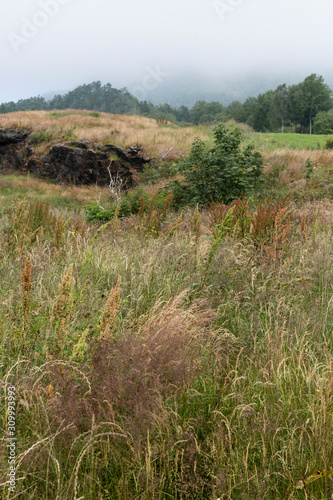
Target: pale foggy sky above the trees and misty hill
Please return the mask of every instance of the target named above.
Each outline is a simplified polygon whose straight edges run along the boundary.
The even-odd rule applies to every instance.
[[[332,80],[332,19],[330,0],[3,1],[0,102],[95,80],[149,98],[188,71]]]

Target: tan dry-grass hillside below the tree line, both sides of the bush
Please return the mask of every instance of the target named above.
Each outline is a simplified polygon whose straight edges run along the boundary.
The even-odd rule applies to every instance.
[[[254,142],[263,152],[276,149],[315,150],[325,147],[331,136],[307,134],[258,134],[249,126],[241,127],[244,144]],[[172,148],[169,157],[189,152],[196,137],[213,144],[213,126],[178,126],[142,116],[111,115],[94,111],[20,111],[0,115],[0,128],[33,131],[31,141],[37,152],[45,153],[50,144],[61,140],[80,140],[100,144],[114,143],[122,147],[143,146],[152,156],[160,157]]]

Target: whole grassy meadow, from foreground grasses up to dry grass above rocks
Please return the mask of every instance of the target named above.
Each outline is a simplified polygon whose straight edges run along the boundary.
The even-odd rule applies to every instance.
[[[12,113],[0,127],[112,142],[111,121],[126,122],[118,144],[139,130],[156,155],[211,140],[208,127],[187,143],[183,128],[101,115],[45,128]],[[84,211],[107,188],[0,172],[2,498],[333,498],[333,152],[263,153],[263,191],[235,208],[107,224]]]

